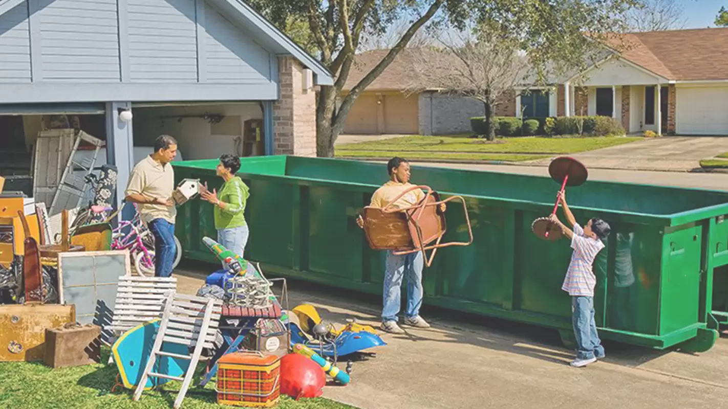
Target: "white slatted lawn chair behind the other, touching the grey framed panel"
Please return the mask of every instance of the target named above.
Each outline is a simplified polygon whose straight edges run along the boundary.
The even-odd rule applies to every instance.
[[[162,318],[165,312],[165,294],[177,289],[177,278],[138,277],[125,275],[119,277],[116,290],[114,317],[111,325],[104,326],[111,331],[110,344],[122,333],[138,325]],[[114,362],[114,355],[108,357],[108,363]]]

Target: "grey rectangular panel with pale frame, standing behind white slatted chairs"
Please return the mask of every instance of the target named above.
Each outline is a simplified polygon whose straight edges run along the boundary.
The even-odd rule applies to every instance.
[[[76,304],[81,324],[111,323],[119,277],[131,275],[129,252],[86,251],[58,254],[58,295],[61,304]]]

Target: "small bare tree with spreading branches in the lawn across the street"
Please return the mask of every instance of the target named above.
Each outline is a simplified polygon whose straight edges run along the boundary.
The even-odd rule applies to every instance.
[[[529,63],[518,39],[482,26],[438,39],[438,46],[416,54],[416,81],[407,84],[406,93],[437,89],[483,102],[486,137],[495,139],[491,118],[496,106],[506,93],[533,81],[527,78]]]

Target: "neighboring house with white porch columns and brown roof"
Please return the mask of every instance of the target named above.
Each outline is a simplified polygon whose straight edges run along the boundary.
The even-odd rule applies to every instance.
[[[624,39],[620,57],[562,81],[556,94],[544,89],[518,99],[517,111],[530,99],[532,116],[612,116],[628,133],[728,135],[728,28]]]

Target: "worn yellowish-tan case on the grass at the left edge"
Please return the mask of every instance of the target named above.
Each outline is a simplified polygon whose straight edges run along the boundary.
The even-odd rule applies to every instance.
[[[45,330],[74,322],[74,305],[0,305],[0,361],[44,360]]]

